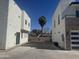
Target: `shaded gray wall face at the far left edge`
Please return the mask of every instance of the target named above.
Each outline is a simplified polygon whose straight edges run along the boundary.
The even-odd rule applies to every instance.
[[[5,48],[8,16],[8,0],[0,0],[0,49]]]

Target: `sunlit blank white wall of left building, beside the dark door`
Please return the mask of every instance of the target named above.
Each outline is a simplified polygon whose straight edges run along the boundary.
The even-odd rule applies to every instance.
[[[21,12],[15,1],[9,0],[5,49],[16,46],[16,33],[20,33],[21,29]]]

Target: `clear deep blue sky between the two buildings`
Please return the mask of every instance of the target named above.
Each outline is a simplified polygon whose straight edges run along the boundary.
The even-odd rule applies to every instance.
[[[38,19],[45,16],[47,24],[45,27],[52,27],[52,15],[59,0],[16,0],[21,9],[25,10],[31,18],[31,30],[40,29]]]

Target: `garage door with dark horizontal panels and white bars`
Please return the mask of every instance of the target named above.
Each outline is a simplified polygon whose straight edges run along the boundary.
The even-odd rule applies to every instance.
[[[79,30],[70,32],[71,49],[79,49]]]

